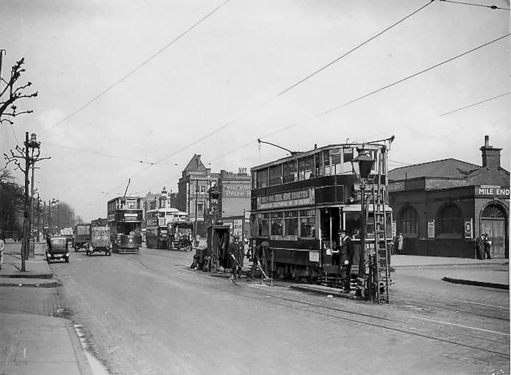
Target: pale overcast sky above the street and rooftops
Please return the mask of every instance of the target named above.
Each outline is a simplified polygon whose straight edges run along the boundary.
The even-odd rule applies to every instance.
[[[0,151],[37,133],[52,157],[39,163],[37,190],[86,221],[106,217],[129,178],[128,194],[177,191],[194,153],[214,172],[286,155],[258,137],[305,151],[395,135],[395,168],[448,157],[481,165],[487,134],[509,170],[509,94],[444,113],[509,92],[510,37],[384,88],[509,33],[508,10],[429,3],[2,0],[3,77],[25,57],[23,81],[39,96],[19,104],[34,114],[0,126]]]

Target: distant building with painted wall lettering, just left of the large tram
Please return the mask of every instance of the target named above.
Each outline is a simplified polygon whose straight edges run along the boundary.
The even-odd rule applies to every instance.
[[[218,189],[222,222],[230,224],[234,233],[250,237],[250,175],[247,169],[240,168],[238,173],[221,170]]]

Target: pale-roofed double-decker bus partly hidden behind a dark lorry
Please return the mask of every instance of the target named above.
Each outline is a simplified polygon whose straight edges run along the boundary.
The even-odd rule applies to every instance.
[[[146,245],[157,249],[168,248],[167,225],[187,221],[188,214],[177,208],[152,208],[146,211]]]

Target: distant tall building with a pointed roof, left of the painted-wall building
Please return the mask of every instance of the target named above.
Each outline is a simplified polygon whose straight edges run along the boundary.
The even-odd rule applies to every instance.
[[[209,208],[207,191],[218,183],[219,174],[211,173],[200,160],[201,155],[194,154],[179,178],[177,208],[189,215],[191,221],[197,221],[197,233],[204,236],[207,223],[204,213]]]

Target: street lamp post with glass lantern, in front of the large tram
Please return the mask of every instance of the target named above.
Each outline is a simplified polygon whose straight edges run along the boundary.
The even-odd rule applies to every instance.
[[[359,249],[359,265],[358,275],[359,278],[365,279],[365,232],[366,232],[366,199],[365,189],[367,178],[373,169],[375,160],[371,158],[365,151],[364,147],[358,149],[358,156],[352,161],[353,171],[358,180],[360,180],[360,249]]]

